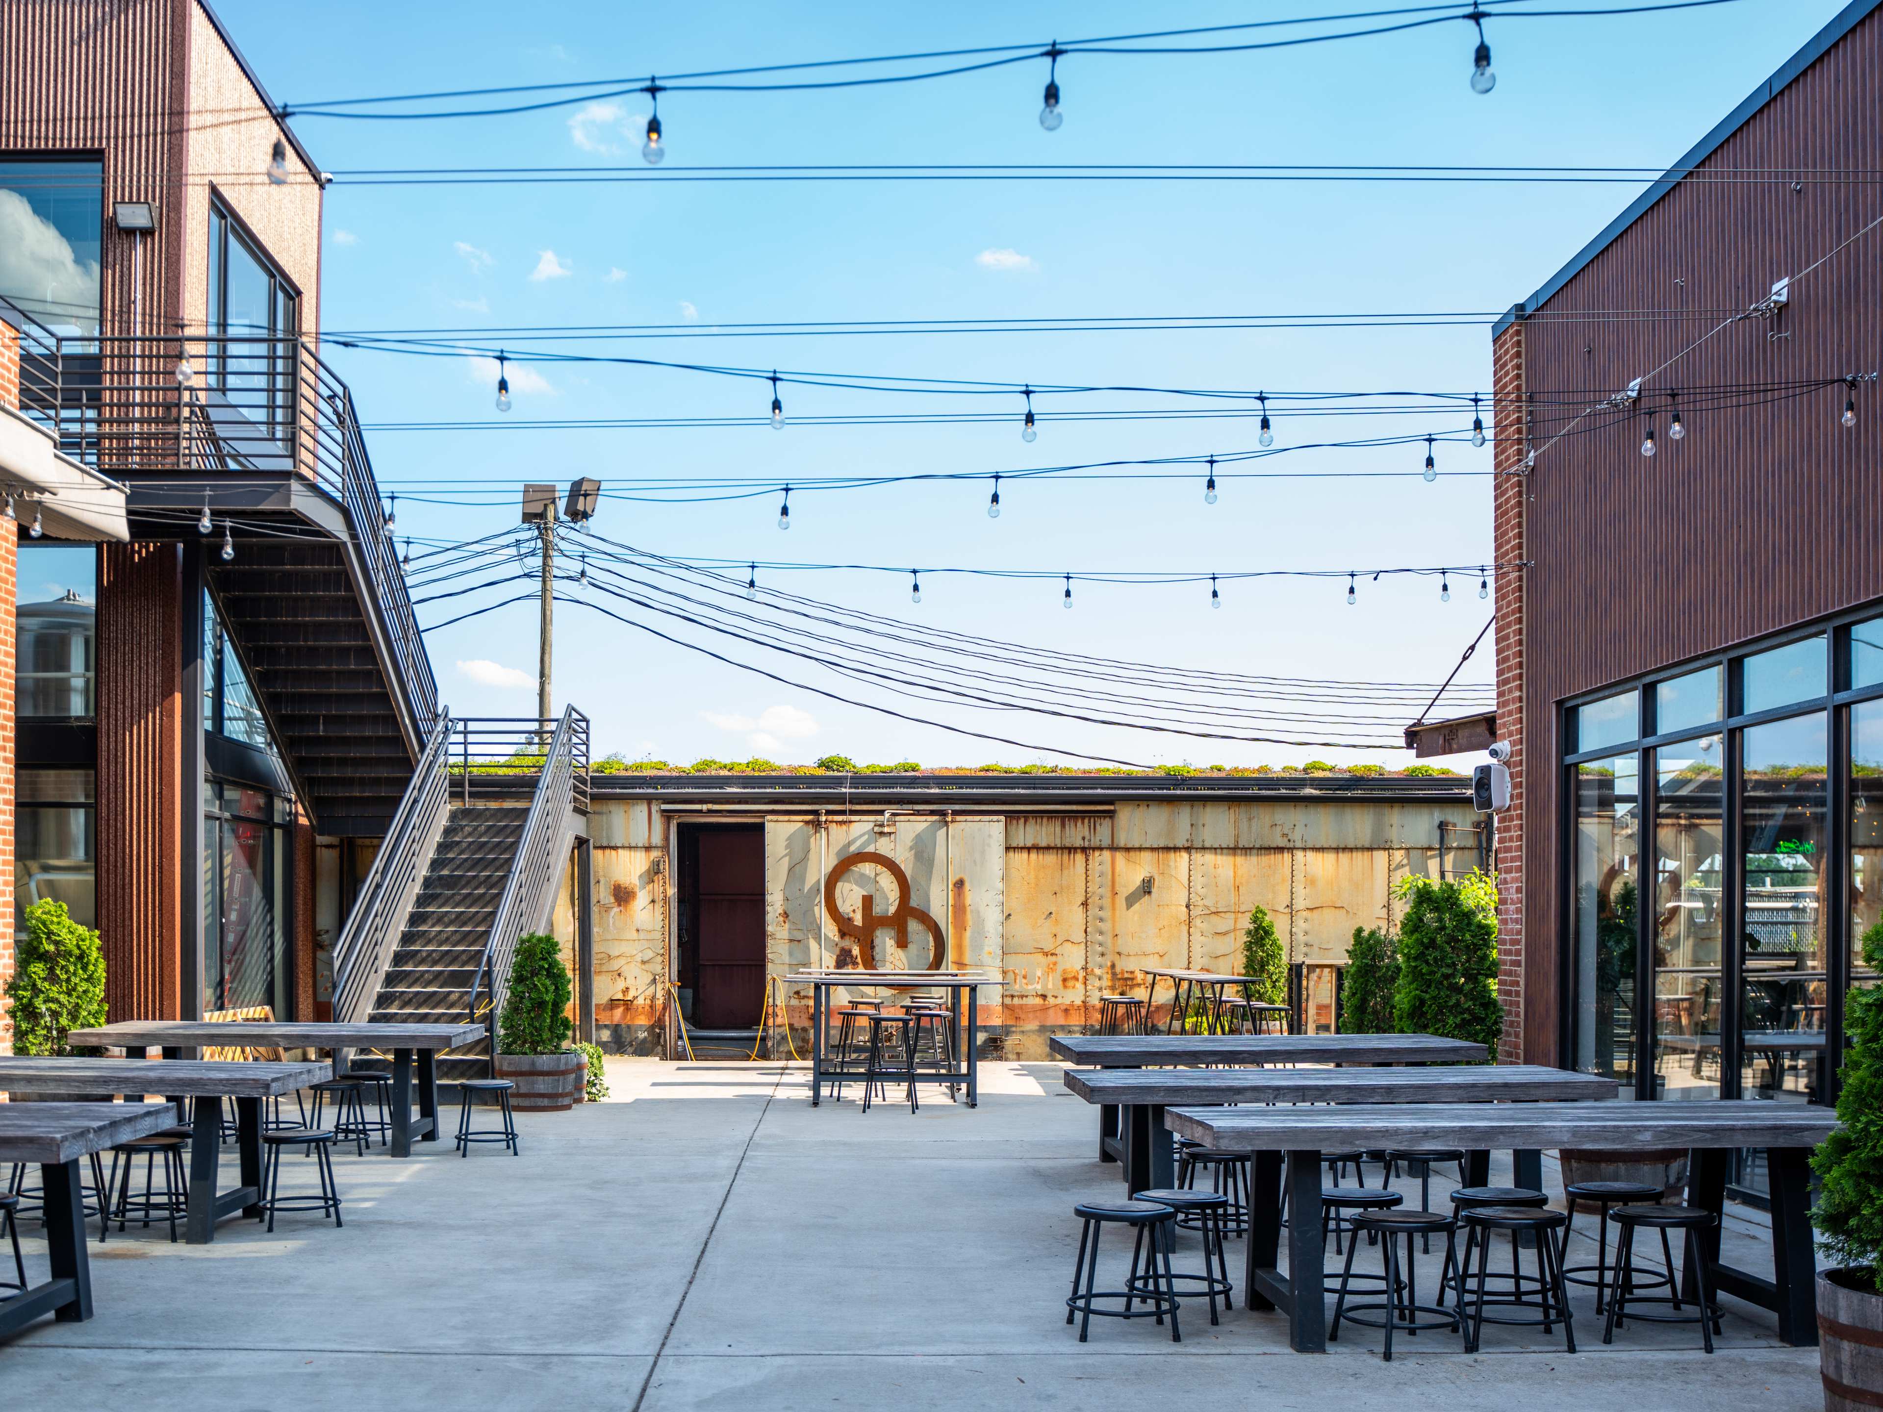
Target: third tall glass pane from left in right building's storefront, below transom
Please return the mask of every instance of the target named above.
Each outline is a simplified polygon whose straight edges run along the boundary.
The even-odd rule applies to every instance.
[[[1825,715],[1746,730],[1740,778],[1746,1098],[1823,1094]]]

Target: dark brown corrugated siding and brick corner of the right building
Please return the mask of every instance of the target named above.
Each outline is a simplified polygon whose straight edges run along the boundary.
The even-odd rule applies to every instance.
[[[1776,94],[1702,166],[1800,169],[1789,183],[1683,183],[1525,322],[1537,441],[1546,403],[1608,395],[1674,358],[1725,313],[1764,297],[1883,215],[1883,19],[1872,15]],[[1810,173],[1853,173],[1817,181]],[[1843,390],[1764,407],[1693,407],[1708,384],[1772,384],[1877,367],[1883,230],[1798,279],[1776,322],[1714,335],[1648,384],[1659,454],[1642,424],[1602,414],[1542,454],[1529,505],[1525,730],[1527,1056],[1552,1062],[1563,949],[1557,704],[1883,597],[1883,399]],[[1595,311],[1685,309],[1682,320],[1604,320]],[[1706,311],[1706,313],[1700,313]],[[1576,322],[1582,314],[1585,322]],[[1778,335],[1778,337],[1770,337]],[[1666,439],[1668,390],[1687,388],[1687,439]]]

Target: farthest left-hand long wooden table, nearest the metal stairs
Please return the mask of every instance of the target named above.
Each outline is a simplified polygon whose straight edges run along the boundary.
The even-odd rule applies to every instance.
[[[439,1051],[482,1039],[482,1024],[331,1024],[320,1020],[119,1020],[73,1030],[68,1043],[115,1049],[162,1049],[166,1060],[185,1049],[326,1049],[333,1073],[345,1073],[354,1049],[392,1051],[392,1156],[412,1156],[412,1139],[439,1141]],[[418,1118],[412,1118],[412,1056],[418,1056]]]

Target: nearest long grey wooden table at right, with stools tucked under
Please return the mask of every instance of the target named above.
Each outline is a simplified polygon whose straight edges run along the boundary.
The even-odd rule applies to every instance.
[[[1691,1148],[1689,1201],[1719,1214],[1727,1162],[1736,1148],[1766,1150],[1772,1182],[1772,1269],[1776,1278],[1719,1263],[1719,1227],[1700,1237],[1714,1286],[1778,1314],[1787,1344],[1817,1342],[1817,1263],[1811,1252],[1810,1148],[1836,1128],[1830,1109],[1736,1098],[1659,1103],[1354,1103],[1331,1107],[1166,1109],[1181,1137],[1254,1156],[1248,1182],[1250,1308],[1282,1308],[1296,1352],[1328,1348],[1322,1229],[1299,1212],[1320,1211],[1322,1152],[1352,1148],[1461,1147],[1602,1148],[1650,1152]],[[1288,1273],[1279,1269],[1280,1186],[1286,1158]],[[1682,1276],[1682,1299],[1698,1299],[1697,1269]]]

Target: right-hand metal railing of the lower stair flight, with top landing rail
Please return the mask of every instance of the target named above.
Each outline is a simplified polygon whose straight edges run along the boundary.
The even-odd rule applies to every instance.
[[[514,727],[514,723],[480,723],[486,734],[495,734],[505,725]],[[569,706],[548,740],[542,738],[540,721],[531,725],[540,755],[520,757],[512,751],[503,761],[503,764],[535,770],[537,787],[529,800],[529,817],[523,821],[523,832],[516,843],[516,864],[503,885],[497,915],[490,924],[490,939],[484,943],[484,958],[478,962],[476,981],[471,985],[467,1011],[473,1022],[486,1020],[491,1054],[497,1052],[497,1017],[503,1015],[503,1000],[510,988],[510,958],[516,955],[516,943],[525,932],[537,930],[548,921],[550,909],[555,906],[555,889],[569,866],[569,847],[574,842],[569,815],[572,811],[586,813],[589,796],[587,717]],[[465,738],[469,740],[469,732]],[[529,764],[523,766],[523,761]],[[467,759],[461,770],[465,791],[471,789],[476,774],[471,764]],[[503,772],[493,778],[516,779],[518,772]]]

